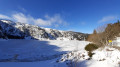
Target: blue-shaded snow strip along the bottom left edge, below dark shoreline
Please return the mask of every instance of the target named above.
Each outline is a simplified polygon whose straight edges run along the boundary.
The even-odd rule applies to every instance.
[[[65,63],[56,63],[56,59],[39,62],[0,62],[0,67],[67,67]]]

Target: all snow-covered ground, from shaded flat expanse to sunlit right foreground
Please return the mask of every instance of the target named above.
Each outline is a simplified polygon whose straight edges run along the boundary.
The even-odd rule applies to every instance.
[[[120,67],[120,51],[105,47],[89,60],[77,40],[0,40],[0,67]],[[21,62],[20,62],[21,61]],[[22,62],[33,61],[33,62]]]

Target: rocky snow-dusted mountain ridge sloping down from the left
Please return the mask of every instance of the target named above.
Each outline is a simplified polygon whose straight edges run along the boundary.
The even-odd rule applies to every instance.
[[[5,39],[84,40],[87,36],[88,34],[80,32],[60,31],[11,20],[0,20],[0,38]]]

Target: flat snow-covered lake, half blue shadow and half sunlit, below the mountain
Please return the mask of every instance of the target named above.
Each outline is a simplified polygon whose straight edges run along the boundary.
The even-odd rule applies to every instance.
[[[68,51],[83,50],[89,42],[77,40],[0,40],[0,61],[43,61]]]

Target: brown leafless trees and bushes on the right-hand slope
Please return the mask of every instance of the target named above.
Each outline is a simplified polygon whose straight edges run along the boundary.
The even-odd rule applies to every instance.
[[[93,34],[88,36],[88,41],[91,41],[98,46],[108,45],[108,40],[113,40],[115,37],[120,36],[120,22],[110,23],[94,30]]]

